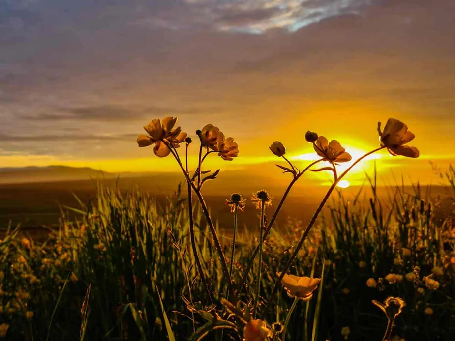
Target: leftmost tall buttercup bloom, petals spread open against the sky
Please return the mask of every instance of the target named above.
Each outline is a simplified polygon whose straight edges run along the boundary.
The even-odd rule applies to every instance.
[[[165,117],[161,122],[156,118],[144,126],[144,130],[149,134],[140,134],[137,137],[139,147],[147,147],[155,144],[153,152],[158,157],[166,157],[171,153],[171,150],[164,142],[169,142],[175,148],[180,146],[180,143],[185,141],[186,133],[182,132],[180,127],[175,129],[174,125],[177,122],[177,117]]]

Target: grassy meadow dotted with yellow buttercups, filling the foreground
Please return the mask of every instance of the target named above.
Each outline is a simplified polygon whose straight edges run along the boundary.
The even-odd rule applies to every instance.
[[[176,150],[171,137],[159,141]],[[336,185],[343,174],[325,152]],[[304,171],[287,172],[295,180]],[[273,199],[276,206],[268,205],[266,191],[255,194],[254,205],[246,198],[246,206],[241,196],[226,195],[221,208],[237,234],[215,223],[201,187],[216,174],[202,175],[199,167],[159,200],[100,185],[93,200],[65,208],[73,215],[63,211],[44,240],[10,225],[0,243],[0,337],[454,339],[453,168],[443,175],[451,204],[437,215],[440,202],[418,184],[410,190],[398,183],[379,196],[375,174],[367,175],[369,188],[358,195],[331,186],[317,214],[307,222],[286,218],[281,228],[271,227],[286,193]],[[323,207],[326,214],[319,216]],[[247,211],[257,220],[242,226],[237,218]],[[222,232],[228,242],[220,243]],[[288,272],[298,282],[292,284]]]

